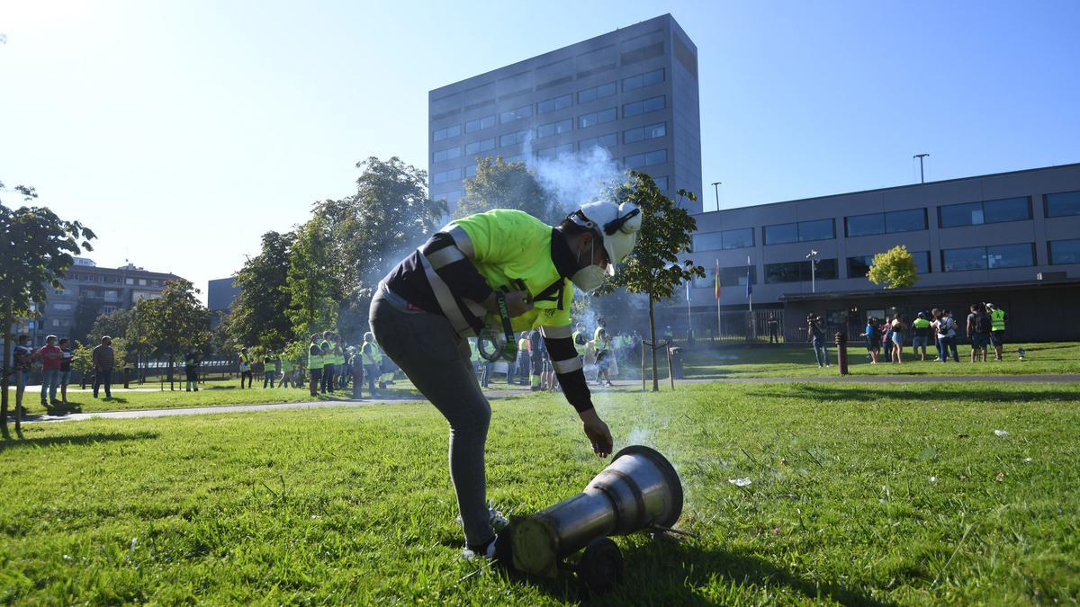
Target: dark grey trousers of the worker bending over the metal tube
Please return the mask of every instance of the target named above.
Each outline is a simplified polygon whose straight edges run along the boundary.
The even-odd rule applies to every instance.
[[[484,443],[491,405],[473,373],[469,342],[454,333],[446,318],[408,310],[393,294],[372,300],[372,332],[383,352],[450,424],[450,480],[465,542],[478,547],[495,535],[484,477]]]

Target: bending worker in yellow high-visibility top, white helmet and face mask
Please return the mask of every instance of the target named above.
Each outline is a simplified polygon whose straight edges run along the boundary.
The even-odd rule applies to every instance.
[[[492,523],[501,527],[505,518],[487,505],[484,448],[491,406],[463,338],[484,333],[509,341],[539,327],[566,400],[593,451],[606,457],[611,432],[593,406],[573,348],[570,307],[575,286],[591,293],[615,275],[640,226],[640,211],[631,203],[589,203],[556,227],[497,208],[451,221],[381,281],[372,301],[372,331],[449,422],[450,477],[467,558],[498,555],[508,564],[509,534],[496,536]]]

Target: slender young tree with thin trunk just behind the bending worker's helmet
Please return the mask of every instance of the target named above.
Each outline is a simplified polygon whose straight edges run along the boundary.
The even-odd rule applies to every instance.
[[[630,293],[649,296],[649,341],[656,347],[657,323],[653,307],[657,301],[672,297],[675,288],[694,276],[704,276],[705,269],[693,260],[679,262],[680,253],[690,253],[691,234],[698,222],[676,201],[661,193],[652,177],[631,171],[630,180],[604,192],[612,202],[631,202],[642,210],[642,230],[637,234],[634,252],[626,258],[615,278],[604,283],[598,294],[617,287]],[[697,194],[678,190],[684,198],[698,200]],[[652,356],[652,391],[660,390],[657,377],[657,358]]]

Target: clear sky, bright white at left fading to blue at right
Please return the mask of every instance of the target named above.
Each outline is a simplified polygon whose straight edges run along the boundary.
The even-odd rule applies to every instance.
[[[724,207],[1080,162],[1076,0],[541,4],[0,0],[0,180],[205,289],[357,160],[426,168],[430,89],[665,12]]]

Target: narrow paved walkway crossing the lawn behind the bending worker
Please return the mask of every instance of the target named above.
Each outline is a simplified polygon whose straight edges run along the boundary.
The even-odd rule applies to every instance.
[[[822,377],[741,377],[729,379],[679,379],[676,385],[684,383],[799,383],[799,382],[821,382],[821,383],[941,383],[949,381],[999,381],[1003,383],[1080,383],[1080,375],[957,375],[957,376],[932,376],[932,375],[860,375],[860,376],[822,376]],[[669,380],[662,383],[670,386]],[[619,381],[616,382],[617,392],[634,391],[642,385],[640,381]],[[629,390],[627,390],[629,389]],[[593,390],[608,391],[604,388],[593,388]],[[507,396],[522,396],[529,394],[527,388],[508,388],[503,390],[488,390],[485,392],[491,399],[504,399]],[[272,412],[284,409],[319,409],[327,407],[364,407],[368,405],[393,404],[393,403],[416,403],[423,402],[422,397],[415,399],[376,399],[363,401],[314,401],[308,403],[271,403],[262,405],[222,405],[216,407],[188,407],[170,409],[134,409],[121,412],[97,412],[97,413],[75,413],[68,415],[31,415],[26,417],[24,423],[48,422],[48,421],[81,421],[95,417],[106,419],[132,419],[139,417],[171,417],[175,415],[207,415],[226,413],[252,413]]]

